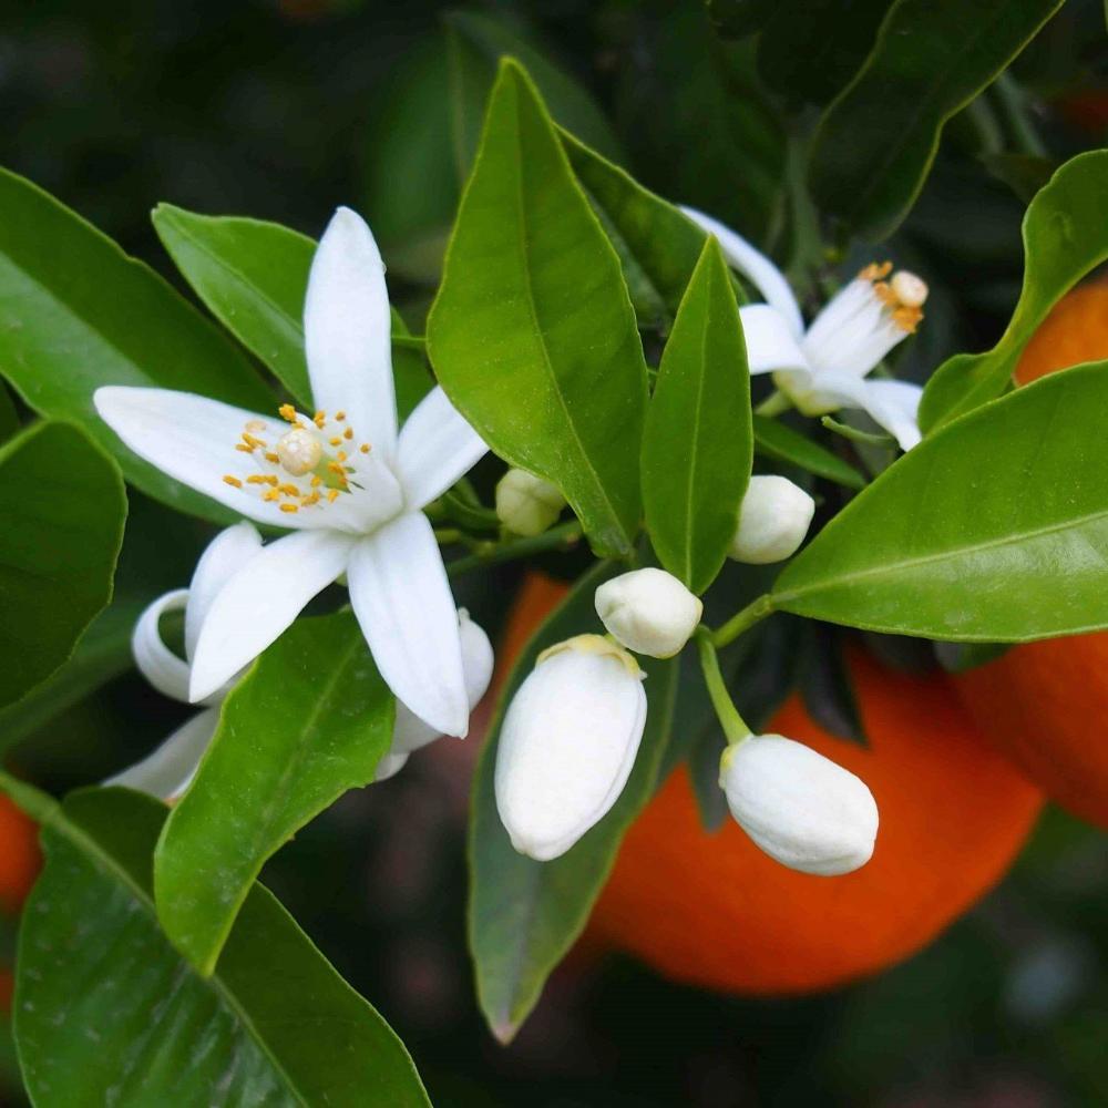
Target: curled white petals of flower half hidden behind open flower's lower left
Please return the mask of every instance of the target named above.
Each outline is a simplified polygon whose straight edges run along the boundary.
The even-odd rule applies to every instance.
[[[239,570],[261,553],[261,536],[249,523],[237,523],[220,531],[196,563],[188,588],[177,588],[160,596],[138,617],[131,636],[131,650],[138,671],[173,700],[188,704],[189,663],[196,653],[201,627],[219,589]],[[163,642],[158,627],[168,612],[185,613],[185,658],[175,655]],[[107,784],[122,784],[148,792],[162,800],[179,797],[196,773],[204,751],[215,735],[223,702],[237,675],[205,700],[205,708],[185,720],[142,761],[111,778]]]

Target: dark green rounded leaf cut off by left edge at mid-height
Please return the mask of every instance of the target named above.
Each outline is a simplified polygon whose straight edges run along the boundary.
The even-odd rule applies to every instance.
[[[111,599],[126,513],[119,470],[80,428],[39,423],[0,448],[0,707],[62,665]]]

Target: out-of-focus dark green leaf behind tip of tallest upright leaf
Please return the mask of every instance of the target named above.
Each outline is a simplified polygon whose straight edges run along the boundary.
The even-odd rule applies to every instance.
[[[619,140],[592,96],[505,22],[475,11],[443,16],[450,64],[450,109],[458,179],[464,181],[481,142],[485,104],[502,58],[519,60],[550,106],[551,115],[605,156],[623,157]]]

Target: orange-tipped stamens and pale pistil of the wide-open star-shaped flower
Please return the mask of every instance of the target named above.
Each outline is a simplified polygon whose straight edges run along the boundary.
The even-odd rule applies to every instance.
[[[355,445],[355,431],[347,423],[346,412],[336,412],[331,420],[326,412],[316,412],[309,419],[291,404],[283,404],[278,412],[291,424],[280,434],[279,424],[271,429],[261,419],[252,419],[243,429],[235,450],[250,459],[254,471],[227,473],[223,479],[227,484],[276,503],[287,514],[321,509],[361,488],[350,452],[369,454],[370,445]]]

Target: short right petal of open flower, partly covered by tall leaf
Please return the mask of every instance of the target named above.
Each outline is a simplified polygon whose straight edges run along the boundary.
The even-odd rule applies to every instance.
[[[412,511],[431,503],[484,456],[481,435],[435,386],[400,432],[397,472]]]

